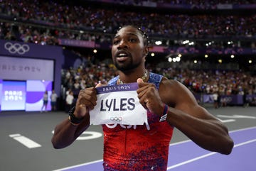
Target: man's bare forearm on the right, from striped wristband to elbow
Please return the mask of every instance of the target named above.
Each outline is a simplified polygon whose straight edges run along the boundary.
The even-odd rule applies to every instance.
[[[178,128],[188,138],[206,150],[223,154],[230,154],[233,148],[233,140],[228,135],[228,129],[213,116],[208,115],[208,111],[201,106],[188,108],[190,111],[169,108],[167,121]],[[192,116],[201,114],[201,116]]]

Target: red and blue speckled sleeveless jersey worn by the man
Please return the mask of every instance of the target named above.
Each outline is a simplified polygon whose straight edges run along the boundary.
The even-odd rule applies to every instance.
[[[162,75],[149,72],[149,83],[159,89]],[[114,77],[108,83],[117,84]],[[147,111],[149,125],[102,125],[104,133],[104,170],[166,170],[173,127]]]

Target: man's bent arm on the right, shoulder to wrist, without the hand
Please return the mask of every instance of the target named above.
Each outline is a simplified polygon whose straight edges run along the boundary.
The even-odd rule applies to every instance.
[[[170,107],[168,111],[169,124],[206,150],[230,154],[234,144],[228,135],[228,128],[199,106],[193,94],[183,84],[172,84],[174,91],[169,93],[178,92],[178,96],[174,101],[174,108]]]

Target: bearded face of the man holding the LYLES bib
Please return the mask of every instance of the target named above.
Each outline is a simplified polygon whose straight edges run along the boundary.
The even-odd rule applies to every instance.
[[[112,60],[118,70],[132,70],[144,65],[145,50],[142,34],[137,28],[125,27],[112,41]]]

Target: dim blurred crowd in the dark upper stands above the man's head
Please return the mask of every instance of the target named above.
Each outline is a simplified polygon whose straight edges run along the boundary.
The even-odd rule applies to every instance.
[[[0,0],[1,1],[1,0]],[[136,1],[134,1],[136,3]],[[172,4],[228,4],[238,1],[165,1]],[[245,4],[254,1],[242,1]],[[239,2],[240,4],[242,2]],[[0,38],[58,45],[58,38],[110,42],[119,26],[141,26],[151,37],[170,38],[255,38],[256,14],[174,14],[152,11],[122,11],[103,6],[70,6],[61,1],[1,1]],[[166,22],[168,21],[168,22]],[[224,40],[226,40],[224,38]],[[221,46],[221,44],[219,44]],[[253,44],[254,45],[254,44]],[[240,46],[240,44],[238,45]]]

